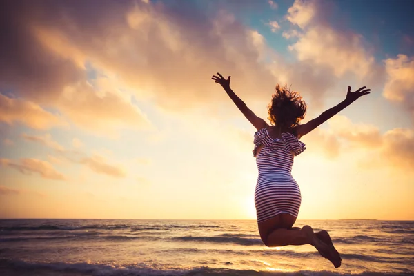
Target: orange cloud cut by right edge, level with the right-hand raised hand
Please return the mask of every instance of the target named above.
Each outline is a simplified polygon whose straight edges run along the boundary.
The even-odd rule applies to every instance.
[[[386,83],[384,97],[402,103],[414,119],[414,57],[397,55],[384,61]]]

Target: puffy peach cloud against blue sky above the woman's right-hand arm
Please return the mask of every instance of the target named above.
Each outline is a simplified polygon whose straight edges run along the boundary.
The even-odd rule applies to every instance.
[[[366,50],[363,37],[350,30],[337,30],[326,23],[325,5],[317,1],[295,1],[288,9],[287,19],[302,30],[299,39],[289,46],[299,61],[313,61],[327,66],[336,77],[351,73],[360,79],[382,74],[381,66]]]

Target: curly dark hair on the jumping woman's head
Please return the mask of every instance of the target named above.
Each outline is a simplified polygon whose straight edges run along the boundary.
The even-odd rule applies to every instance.
[[[285,85],[276,86],[276,92],[272,95],[272,101],[268,105],[268,119],[276,126],[293,128],[304,119],[306,115],[306,103],[298,92],[293,92]]]

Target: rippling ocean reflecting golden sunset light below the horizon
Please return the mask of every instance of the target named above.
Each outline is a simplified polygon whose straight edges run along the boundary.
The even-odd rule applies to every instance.
[[[414,221],[299,220],[312,246],[268,248],[254,220],[0,219],[0,275],[414,275]]]

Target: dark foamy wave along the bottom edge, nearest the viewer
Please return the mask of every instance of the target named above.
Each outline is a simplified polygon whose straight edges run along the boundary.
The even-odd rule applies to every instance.
[[[268,272],[258,270],[237,270],[230,268],[208,268],[207,266],[201,266],[197,268],[189,269],[166,269],[160,270],[151,268],[144,264],[136,264],[134,266],[113,266],[105,264],[88,264],[88,263],[31,263],[17,260],[0,259],[1,271],[6,275],[21,275],[21,273],[32,273],[41,275],[59,275],[60,273],[73,273],[76,275],[107,275],[107,276],[121,276],[121,275],[171,275],[171,276],[195,276],[195,275],[229,275],[229,276],[248,276],[248,275],[309,275],[309,276],[344,276],[345,273],[335,273],[331,271],[311,271],[311,270],[298,270],[290,272]],[[350,274],[348,274],[350,275]],[[411,273],[375,273],[375,272],[363,272],[353,273],[353,276],[397,276],[397,275],[412,275]]]

